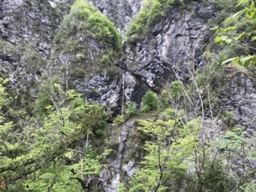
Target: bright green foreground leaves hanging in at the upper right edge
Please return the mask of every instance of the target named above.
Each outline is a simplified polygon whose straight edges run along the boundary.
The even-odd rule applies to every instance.
[[[238,56],[234,58],[230,58],[228,60],[225,60],[222,62],[222,65],[226,63],[236,63],[239,65],[243,65],[244,67],[248,67],[250,63],[256,63],[256,56],[255,56],[255,45],[253,44],[253,41],[256,40],[256,30],[255,30],[255,24],[256,24],[256,9],[255,9],[255,1],[252,0],[242,0],[240,1],[237,6],[244,4],[245,8],[241,10],[240,12],[237,12],[234,14],[231,18],[228,18],[225,20],[224,24],[225,26],[229,26],[228,28],[219,28],[216,26],[215,28],[212,28],[212,30],[216,30],[218,33],[220,33],[223,36],[217,36],[215,38],[215,42],[219,44],[224,45],[243,45],[247,48],[246,51],[240,52]],[[248,7],[247,7],[248,6]],[[237,18],[242,15],[243,13],[246,14],[246,18],[238,20]],[[235,24],[235,26],[230,26],[231,24]],[[238,29],[237,29],[238,28]],[[237,30],[237,33],[236,33]],[[243,31],[241,33],[241,31]],[[240,34],[239,34],[240,32]],[[243,54],[249,53],[248,56],[241,56]]]

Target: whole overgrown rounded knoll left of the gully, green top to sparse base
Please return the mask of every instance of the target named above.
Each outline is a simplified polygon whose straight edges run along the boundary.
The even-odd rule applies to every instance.
[[[95,6],[88,1],[77,0],[56,29],[52,59],[60,54],[72,58],[69,66],[71,79],[99,74],[102,70],[115,75],[121,41],[122,36],[114,24]],[[66,67],[62,68],[65,70]]]

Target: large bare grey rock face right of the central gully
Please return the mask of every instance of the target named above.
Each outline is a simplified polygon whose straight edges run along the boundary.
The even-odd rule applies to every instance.
[[[204,68],[202,47],[208,41],[209,28],[203,20],[172,10],[148,38],[127,47],[120,67],[159,91],[166,82],[177,78],[186,82],[196,68]]]

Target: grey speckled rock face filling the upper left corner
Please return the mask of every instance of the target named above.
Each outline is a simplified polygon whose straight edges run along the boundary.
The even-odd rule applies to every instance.
[[[0,66],[13,87],[40,80],[59,22],[48,1],[0,2]]]

